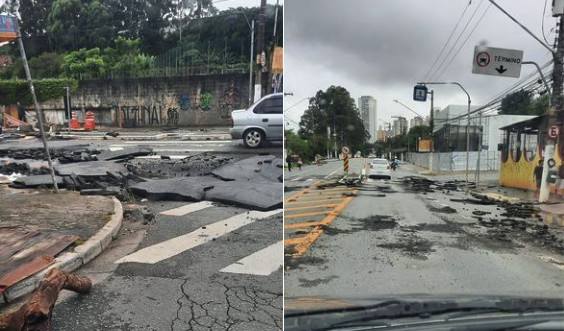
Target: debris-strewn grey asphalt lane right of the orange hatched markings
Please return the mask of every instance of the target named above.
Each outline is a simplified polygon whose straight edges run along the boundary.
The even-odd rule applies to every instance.
[[[351,159],[352,171],[358,162]],[[564,261],[564,231],[547,226],[535,205],[489,201],[466,194],[460,181],[411,176],[405,165],[390,181],[358,186],[303,256],[289,258],[294,248],[286,247],[287,297],[564,295],[562,270],[545,258]]]

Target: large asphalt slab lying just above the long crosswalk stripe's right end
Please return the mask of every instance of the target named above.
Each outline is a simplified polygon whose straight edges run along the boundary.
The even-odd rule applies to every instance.
[[[282,208],[282,185],[275,182],[220,182],[205,194],[205,200],[255,210]]]

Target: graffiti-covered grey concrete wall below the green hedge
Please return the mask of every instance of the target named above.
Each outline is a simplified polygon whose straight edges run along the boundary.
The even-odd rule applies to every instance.
[[[232,110],[249,106],[248,84],[248,74],[86,80],[71,104],[79,122],[91,110],[104,126],[227,126]],[[48,122],[62,124],[62,99],[42,107]]]

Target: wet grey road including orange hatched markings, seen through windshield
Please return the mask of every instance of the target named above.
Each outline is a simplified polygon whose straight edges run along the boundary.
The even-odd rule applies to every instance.
[[[363,166],[351,160],[352,172]],[[414,190],[398,180],[418,175],[407,164],[391,181],[312,185],[342,176],[341,167],[329,162],[285,173],[285,298],[564,295],[562,255],[533,237],[515,239],[524,233],[518,228],[482,226],[473,214],[496,218],[503,208],[451,201],[471,198],[464,191]],[[561,228],[550,231],[561,238]]]

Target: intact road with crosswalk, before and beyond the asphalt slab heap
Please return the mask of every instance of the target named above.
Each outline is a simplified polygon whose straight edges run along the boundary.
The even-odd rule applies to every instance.
[[[52,148],[82,144],[149,146],[172,159],[199,152],[237,159],[259,152],[282,157],[280,145],[249,150],[242,141],[49,142]],[[41,144],[35,139],[0,144],[32,147]],[[53,313],[54,330],[282,330],[281,209],[141,204],[156,214],[155,220],[125,221],[110,247],[77,271],[94,287],[87,295],[63,293]]]

